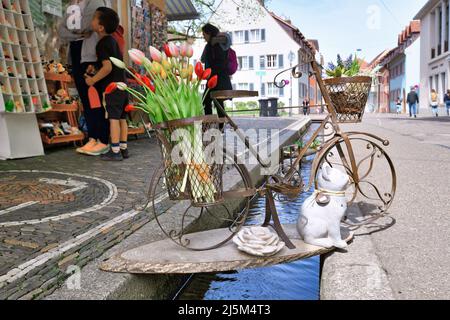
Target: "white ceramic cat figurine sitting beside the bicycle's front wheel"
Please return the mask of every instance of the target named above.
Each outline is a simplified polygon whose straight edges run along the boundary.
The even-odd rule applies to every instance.
[[[341,221],[347,211],[345,190],[349,183],[348,175],[323,165],[318,175],[320,189],[306,199],[297,223],[305,243],[323,248],[347,247],[341,237]]]

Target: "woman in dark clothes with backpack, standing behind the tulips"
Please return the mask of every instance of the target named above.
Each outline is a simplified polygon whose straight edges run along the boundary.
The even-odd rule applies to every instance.
[[[203,28],[203,37],[207,42],[202,54],[201,62],[205,64],[205,69],[211,68],[211,77],[217,75],[217,86],[209,92],[221,90],[233,90],[231,79],[228,71],[228,56],[231,48],[231,38],[226,33],[220,33],[220,30],[208,23]],[[204,94],[204,108],[205,114],[211,115],[213,113],[211,96]],[[218,101],[224,107],[224,101]],[[219,117],[225,115],[218,111]]]

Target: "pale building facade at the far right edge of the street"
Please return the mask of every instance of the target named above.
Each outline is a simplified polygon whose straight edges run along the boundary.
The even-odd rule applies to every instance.
[[[420,43],[420,108],[429,108],[431,89],[439,93],[443,103],[450,75],[450,7],[448,0],[430,0],[414,19],[421,20]]]

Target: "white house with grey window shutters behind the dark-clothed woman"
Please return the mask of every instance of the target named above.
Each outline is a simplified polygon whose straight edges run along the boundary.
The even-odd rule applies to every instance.
[[[301,47],[315,51],[290,21],[269,12],[258,0],[224,0],[210,22],[232,37],[239,60],[239,70],[232,76],[235,90],[258,91],[260,98],[276,97],[285,106],[300,106],[304,98],[319,96],[311,92],[308,70],[300,79],[283,74],[278,80],[290,82],[284,88],[274,84],[277,74],[298,64]],[[195,42],[195,60],[200,60],[204,46],[202,40]]]

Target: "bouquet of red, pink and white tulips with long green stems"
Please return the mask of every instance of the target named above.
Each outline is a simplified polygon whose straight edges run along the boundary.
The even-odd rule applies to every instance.
[[[203,116],[203,97],[199,87],[203,81],[207,81],[208,91],[215,88],[217,76],[211,77],[211,69],[205,70],[200,62],[195,66],[190,63],[193,49],[187,43],[181,46],[176,46],[174,43],[166,44],[162,51],[150,47],[151,59],[137,49],[128,52],[131,61],[142,67],[146,75],[128,68],[123,61],[111,58],[112,63],[126,70],[142,90],[130,88],[125,83],[116,83],[112,84],[110,91],[116,89],[127,91],[136,101],[134,105],[127,107],[127,111],[144,111],[154,125]],[[172,172],[174,169],[178,170],[177,184],[181,193],[186,191],[188,180],[190,180],[191,185],[197,186],[191,188],[194,201],[212,203],[215,201],[214,194],[217,190],[212,182],[210,166],[207,165],[203,154],[202,132],[195,125],[183,129],[180,130],[181,135],[175,142],[182,150],[187,170],[182,171],[172,163],[172,159],[165,159],[166,168],[170,167]],[[162,148],[165,147],[162,146]],[[163,151],[170,152],[164,149]]]

